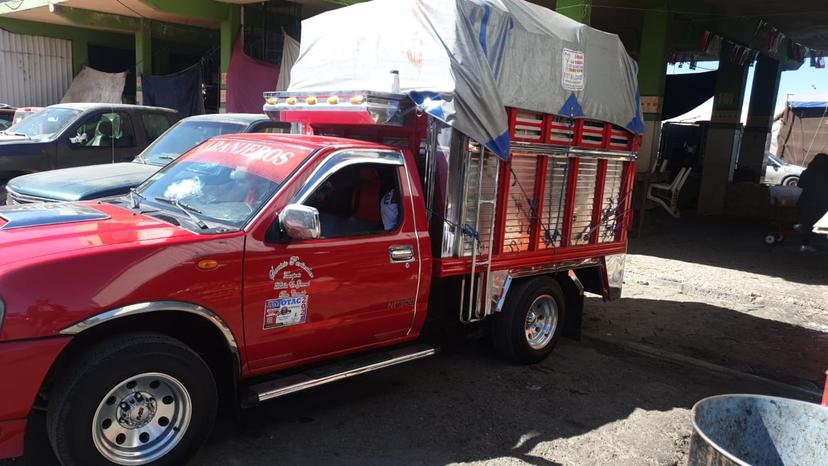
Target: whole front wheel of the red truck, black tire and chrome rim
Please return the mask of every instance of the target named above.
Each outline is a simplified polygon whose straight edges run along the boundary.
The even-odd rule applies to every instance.
[[[204,360],[149,333],[93,347],[50,393],[47,431],[66,466],[182,464],[206,440],[217,406]]]

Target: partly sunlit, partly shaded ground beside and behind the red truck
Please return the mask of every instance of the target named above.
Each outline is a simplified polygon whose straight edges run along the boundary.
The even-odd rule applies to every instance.
[[[632,242],[623,299],[590,299],[584,338],[547,361],[471,340],[222,419],[191,464],[684,465],[698,400],[822,390],[828,248],[763,233],[661,221]]]

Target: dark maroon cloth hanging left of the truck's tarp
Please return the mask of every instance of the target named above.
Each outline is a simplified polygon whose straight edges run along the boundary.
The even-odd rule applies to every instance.
[[[262,93],[276,90],[278,80],[278,66],[248,57],[237,40],[227,70],[227,111],[262,113]]]

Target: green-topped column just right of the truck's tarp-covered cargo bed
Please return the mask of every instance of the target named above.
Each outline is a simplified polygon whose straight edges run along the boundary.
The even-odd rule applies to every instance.
[[[644,113],[644,140],[639,151],[638,171],[649,173],[655,164],[661,135],[661,110],[667,79],[667,55],[670,51],[672,13],[666,2],[644,13],[641,46],[638,56],[638,86],[641,111]]]

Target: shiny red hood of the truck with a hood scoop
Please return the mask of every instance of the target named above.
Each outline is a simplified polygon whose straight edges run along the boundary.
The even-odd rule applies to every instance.
[[[197,236],[108,203],[40,203],[0,207],[0,268],[79,249]]]

